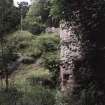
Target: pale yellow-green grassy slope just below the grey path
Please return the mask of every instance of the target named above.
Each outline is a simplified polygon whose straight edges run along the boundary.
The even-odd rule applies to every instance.
[[[11,75],[10,82],[14,82],[16,85],[23,85],[30,77],[50,78],[50,74],[47,69],[37,67],[35,64],[22,65]]]

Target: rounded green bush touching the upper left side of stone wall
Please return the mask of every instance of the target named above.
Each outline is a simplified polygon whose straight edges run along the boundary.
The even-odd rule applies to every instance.
[[[58,48],[59,36],[56,34],[42,34],[36,38],[36,42],[43,52],[52,52]]]

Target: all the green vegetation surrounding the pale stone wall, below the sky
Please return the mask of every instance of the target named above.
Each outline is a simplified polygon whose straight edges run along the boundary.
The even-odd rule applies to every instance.
[[[56,90],[59,36],[46,32],[60,21],[81,42],[82,58],[73,62],[79,87],[68,97]],[[104,27],[104,0],[37,0],[19,7],[1,0],[0,105],[104,105]]]

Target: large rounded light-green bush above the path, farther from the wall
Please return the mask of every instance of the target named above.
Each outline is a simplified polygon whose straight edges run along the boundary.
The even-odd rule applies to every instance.
[[[17,31],[9,35],[8,45],[11,45],[16,53],[24,56],[36,59],[41,55],[41,51],[36,44],[36,37],[28,31]]]

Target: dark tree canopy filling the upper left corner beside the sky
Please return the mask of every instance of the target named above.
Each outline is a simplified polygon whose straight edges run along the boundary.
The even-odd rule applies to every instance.
[[[20,12],[13,6],[12,0],[0,1],[0,34],[6,34],[17,27],[20,21]],[[17,17],[17,19],[16,19]]]

